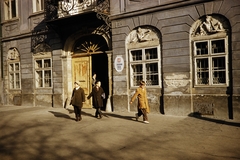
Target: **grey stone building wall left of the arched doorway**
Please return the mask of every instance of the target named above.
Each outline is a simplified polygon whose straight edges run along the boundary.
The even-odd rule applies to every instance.
[[[33,13],[30,6],[32,6],[31,1],[19,0],[17,1],[17,17],[5,20],[4,14],[1,14],[3,32],[3,93],[1,94],[1,103],[3,105],[62,107],[64,104],[62,51],[59,49],[62,46],[61,40],[54,32],[48,32],[47,38],[43,41],[34,36],[35,32],[46,29],[46,24],[44,24],[44,11]],[[37,44],[43,43],[48,44],[52,50],[50,56],[54,66],[52,67],[52,88],[36,88],[33,48]],[[8,53],[13,48],[18,51],[18,60],[8,59]],[[8,65],[17,61],[20,63],[21,87],[10,89]]]

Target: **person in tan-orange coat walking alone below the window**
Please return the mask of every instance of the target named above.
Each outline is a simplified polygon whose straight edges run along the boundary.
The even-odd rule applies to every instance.
[[[143,122],[148,124],[148,116],[147,113],[149,113],[149,105],[148,105],[148,99],[147,99],[147,91],[146,91],[146,84],[144,81],[140,82],[140,86],[137,88],[135,94],[132,96],[130,104],[135,100],[136,97],[138,97],[138,113],[135,114],[136,120],[138,120],[139,117],[143,115]]]

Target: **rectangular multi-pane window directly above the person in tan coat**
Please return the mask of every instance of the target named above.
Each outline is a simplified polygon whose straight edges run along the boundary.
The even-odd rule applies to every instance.
[[[138,86],[144,80],[147,86],[160,85],[159,47],[129,51],[131,86]]]

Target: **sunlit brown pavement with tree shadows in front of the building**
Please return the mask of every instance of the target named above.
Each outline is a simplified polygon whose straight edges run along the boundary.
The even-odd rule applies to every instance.
[[[0,106],[1,160],[237,160],[240,122],[72,108]]]

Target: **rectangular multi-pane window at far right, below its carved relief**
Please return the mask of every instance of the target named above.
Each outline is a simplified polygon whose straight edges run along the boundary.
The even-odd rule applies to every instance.
[[[195,84],[228,85],[227,39],[194,42]]]

